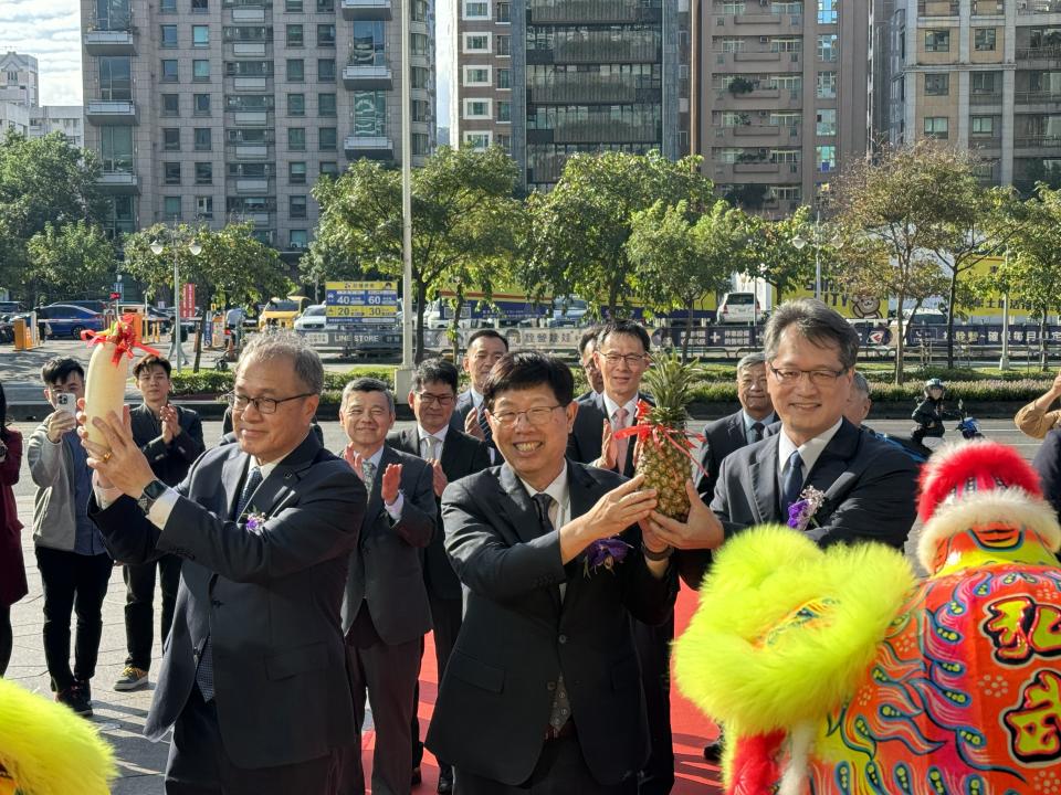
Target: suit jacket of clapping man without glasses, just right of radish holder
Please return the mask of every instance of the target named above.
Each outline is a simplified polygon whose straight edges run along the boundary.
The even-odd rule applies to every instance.
[[[401,464],[405,505],[396,522],[384,506],[380,487],[388,464]],[[421,549],[431,542],[437,508],[429,467],[411,456],[384,445],[384,453],[368,496],[358,549],[350,553],[350,569],[343,598],[343,632],[367,601],[369,616],[384,643],[414,640],[431,629],[431,608],[423,586]]]

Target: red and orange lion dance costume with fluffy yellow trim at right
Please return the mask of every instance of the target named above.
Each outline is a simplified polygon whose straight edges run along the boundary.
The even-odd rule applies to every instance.
[[[1011,448],[937,452],[895,550],[727,541],[675,644],[727,795],[1061,795],[1061,528]]]

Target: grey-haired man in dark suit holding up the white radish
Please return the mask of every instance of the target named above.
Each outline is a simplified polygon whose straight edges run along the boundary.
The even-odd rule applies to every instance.
[[[176,489],[128,420],[95,421],[105,445],[83,439],[90,512],[115,558],[185,559],[145,728],[154,741],[174,728],[167,795],[333,792],[339,750],[356,741],[339,606],[365,489],[309,432],[323,386],[297,335],[255,337],[231,395],[237,444]]]

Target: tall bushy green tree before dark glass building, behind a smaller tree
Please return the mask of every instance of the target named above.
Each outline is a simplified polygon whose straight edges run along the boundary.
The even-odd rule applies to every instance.
[[[627,241],[634,213],[656,201],[686,202],[691,212],[714,205],[700,158],[671,161],[659,152],[607,151],[568,159],[556,188],[528,199],[530,235],[523,283],[540,299],[579,295],[592,309],[629,312],[634,294]]]

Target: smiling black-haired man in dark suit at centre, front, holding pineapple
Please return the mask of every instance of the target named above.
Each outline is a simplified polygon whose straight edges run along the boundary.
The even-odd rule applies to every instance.
[[[484,398],[506,463],[442,498],[469,593],[428,748],[452,761],[462,795],[628,795],[648,754],[630,616],[665,619],[675,575],[637,527],[655,504],[642,479],[565,458],[572,392],[553,357],[503,358]],[[591,565],[595,542],[619,534],[626,556]]]

